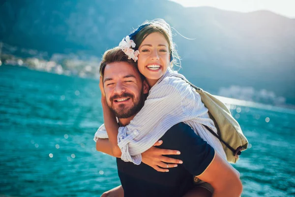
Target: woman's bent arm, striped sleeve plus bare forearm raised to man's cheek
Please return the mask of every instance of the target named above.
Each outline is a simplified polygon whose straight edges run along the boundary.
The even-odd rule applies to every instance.
[[[172,80],[171,84],[169,80],[163,80],[155,85],[143,108],[126,127],[118,126],[115,115],[107,105],[103,85],[100,83],[105,128],[116,157],[121,157],[125,162],[140,164],[141,153],[152,147],[173,125],[187,120],[182,106],[183,95],[188,94],[188,90],[185,89],[187,84],[184,81],[174,84],[173,82]]]

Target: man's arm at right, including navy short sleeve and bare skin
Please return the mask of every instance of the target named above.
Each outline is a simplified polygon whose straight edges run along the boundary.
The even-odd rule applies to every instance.
[[[162,137],[161,148],[174,148],[181,152],[174,158],[183,161],[183,167],[192,175],[211,184],[213,197],[238,197],[242,192],[239,175],[227,161],[197,135],[188,125],[179,123]],[[168,146],[169,145],[169,146]]]

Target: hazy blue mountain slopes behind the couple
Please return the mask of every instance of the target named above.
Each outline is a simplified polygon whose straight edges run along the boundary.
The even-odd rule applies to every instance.
[[[167,0],[6,0],[0,41],[53,53],[101,56],[145,20],[165,19],[183,73],[218,93],[232,85],[265,89],[295,104],[295,19],[269,11],[239,13]]]

